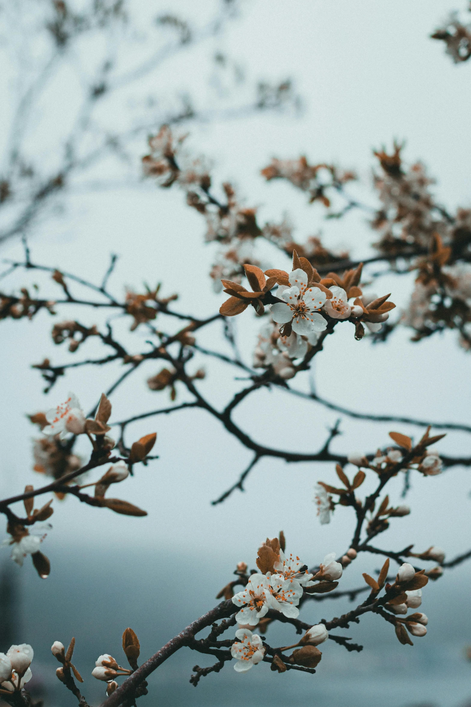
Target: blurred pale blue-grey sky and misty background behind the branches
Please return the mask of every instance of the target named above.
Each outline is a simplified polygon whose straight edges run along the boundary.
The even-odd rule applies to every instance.
[[[439,201],[450,209],[470,208],[471,65],[453,65],[429,38],[454,9],[453,0],[131,0],[126,8],[95,4],[95,20],[88,24],[83,17],[89,6],[73,7],[71,16],[60,3],[45,0],[1,4],[2,175],[13,175],[11,183],[18,184],[0,214],[2,259],[22,257],[19,239],[26,234],[35,262],[100,282],[109,254],[116,253],[119,262],[109,285],[116,296],[123,296],[124,286],[139,291],[144,282],[151,287],[162,282],[165,296],[179,293],[181,311],[201,317],[217,311],[222,296],[213,292],[208,277],[215,245],[203,244],[203,221],[181,192],[158,189],[141,174],[147,136],[163,122],[189,133],[189,149],[213,165],[214,184],[232,180],[246,206],[258,207],[259,221],[280,221],[286,212],[297,225],[298,240],[322,233],[325,245],[347,246],[353,257],[371,254],[375,234],[364,214],[326,221],[321,206],[307,206],[305,195],[290,185],[267,185],[259,172],[273,156],[305,154],[314,163],[354,168],[360,181],[350,192],[374,207],[372,150],[405,139],[405,160],[426,163],[437,178]],[[112,12],[105,12],[107,7]],[[290,88],[280,97],[277,87],[287,81]],[[38,198],[46,186],[47,198]],[[287,258],[268,244],[261,257],[287,267]],[[405,305],[412,281],[412,274],[385,276],[381,291]],[[32,284],[40,296],[56,296],[49,276],[37,272],[16,271],[1,289]],[[83,293],[78,286],[75,292]],[[64,308],[59,317],[102,325],[107,315]],[[26,414],[49,409],[68,390],[86,411],[121,373],[114,364],[72,370],[45,396],[44,381],[31,364],[44,357],[54,363],[75,360],[52,343],[53,321],[40,312],[32,322],[1,322],[2,497],[39,483],[31,453],[37,433]],[[120,339],[140,351],[147,334],[129,334],[129,324],[129,318],[113,320]],[[239,348],[249,362],[259,326],[248,312],[237,321]],[[215,324],[198,343],[225,350],[221,339]],[[101,353],[93,340],[85,346],[87,356]],[[195,370],[201,363],[195,357]],[[201,390],[222,407],[242,384],[222,363],[205,365]],[[453,332],[413,344],[410,332],[398,328],[387,344],[371,346],[366,339],[354,341],[350,328],[341,327],[329,337],[310,377],[302,374],[296,382],[304,390],[315,385],[318,395],[359,411],[470,423],[469,366],[469,354]],[[151,392],[145,385],[157,370],[148,363],[117,390],[112,420],[169,404],[167,392]],[[178,391],[177,402],[184,399]],[[236,419],[272,446],[316,450],[338,418],[282,391],[260,392],[257,401],[257,409],[252,403],[241,406]],[[374,450],[387,444],[391,428],[418,433],[407,425],[345,418],[333,448]],[[141,657],[147,658],[213,607],[237,561],[254,566],[267,535],[284,530],[287,549],[308,564],[329,551],[345,551],[352,535],[347,510],[336,510],[330,525],[321,526],[316,518],[314,485],[318,479],[333,482],[333,465],[262,460],[245,493],[213,507],[210,501],[237,479],[249,453],[200,411],[142,421],[130,434],[138,438],[151,431],[157,431],[159,460],[137,469],[120,487],[126,499],[148,510],[146,518],[82,508],[74,499],[54,502],[53,528],[42,545],[52,562],[47,580],[37,577],[29,559],[19,568],[8,548],[0,549],[0,650],[11,643],[32,644],[31,685],[47,706],[75,702],[54,676],[53,641],[66,644],[76,637],[83,692],[89,702],[100,703],[104,686],[91,670],[100,653],[122,660],[126,626],[138,634]],[[87,445],[80,441],[78,452],[85,456]],[[450,433],[439,448],[469,455],[470,440]],[[435,544],[448,559],[467,550],[470,489],[469,471],[459,467],[440,477],[412,477],[405,501],[412,513],[391,523],[381,546],[415,542],[424,550]],[[395,479],[390,498],[396,505],[403,502],[402,490],[403,481]],[[362,557],[345,571],[342,588],[361,586],[361,573],[378,566],[374,558]],[[191,668],[206,665],[205,658],[181,651],[153,674],[143,700],[169,706],[230,707],[261,699],[274,706],[287,700],[331,707],[347,701],[352,707],[378,701],[391,707],[463,706],[471,698],[465,655],[471,643],[470,580],[471,566],[464,564],[427,585],[422,610],[429,617],[428,633],[413,647],[400,645],[378,617],[367,617],[342,632],[363,643],[364,651],[323,644],[314,677],[278,675],[266,665],[237,675],[227,665],[201,679],[196,689],[188,682]],[[314,622],[348,607],[347,600],[325,600],[303,614]],[[284,627],[268,630],[274,644],[278,636],[285,643],[291,635]]]

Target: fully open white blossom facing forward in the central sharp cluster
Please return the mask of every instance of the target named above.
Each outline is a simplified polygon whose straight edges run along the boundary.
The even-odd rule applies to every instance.
[[[307,275],[297,268],[290,273],[290,285],[279,285],[276,296],[285,300],[270,305],[270,311],[275,322],[287,324],[292,322],[296,334],[311,334],[323,332],[327,327],[324,317],[318,313],[326,302],[326,293],[318,287],[307,286]]]

